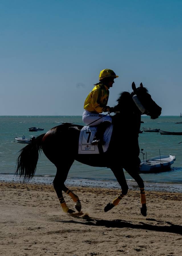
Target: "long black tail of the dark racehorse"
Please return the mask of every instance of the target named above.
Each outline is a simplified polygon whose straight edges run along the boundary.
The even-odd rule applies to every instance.
[[[44,135],[45,133],[36,137],[30,142],[30,144],[19,151],[21,153],[17,159],[17,169],[15,175],[19,174],[20,177],[24,176],[23,182],[32,179],[35,174],[38,156],[42,150],[41,142]]]

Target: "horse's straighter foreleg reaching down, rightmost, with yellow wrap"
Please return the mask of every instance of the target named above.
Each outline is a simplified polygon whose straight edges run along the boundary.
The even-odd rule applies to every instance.
[[[140,201],[142,204],[142,208],[140,208],[140,212],[143,216],[147,216],[147,207],[146,207],[146,197],[145,197],[145,189],[144,189],[144,181],[138,174],[138,168],[135,173],[130,172],[127,170],[127,172],[130,174],[130,176],[137,182],[138,186],[140,187]]]

